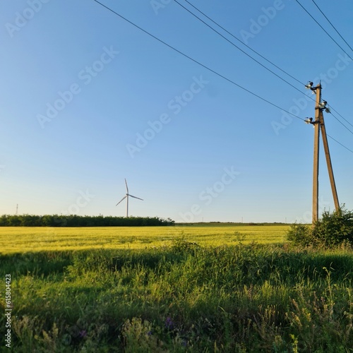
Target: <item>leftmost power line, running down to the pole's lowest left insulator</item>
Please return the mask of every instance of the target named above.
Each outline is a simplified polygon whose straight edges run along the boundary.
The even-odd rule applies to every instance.
[[[226,76],[223,76],[221,73],[218,73],[217,71],[213,70],[212,68],[209,68],[208,66],[205,66],[204,64],[201,64],[200,61],[197,61],[196,59],[191,58],[191,56],[184,54],[183,52],[181,52],[179,49],[173,47],[172,45],[164,42],[163,40],[160,40],[160,38],[156,37],[155,35],[152,35],[152,33],[148,32],[147,30],[144,30],[143,28],[141,28],[140,26],[136,25],[136,23],[131,22],[131,20],[128,20],[127,18],[125,18],[124,16],[120,15],[119,13],[117,13],[116,11],[112,10],[112,8],[109,8],[108,6],[105,6],[104,4],[102,4],[100,1],[98,0],[93,0],[95,1],[97,4],[100,4],[101,6],[103,6],[104,8],[106,8],[108,11],[114,13],[116,16],[119,16],[120,18],[122,18],[123,20],[125,20],[126,22],[130,23],[131,25],[133,25],[134,27],[138,28],[139,30],[143,31],[145,34],[149,35],[150,37],[154,38],[155,40],[157,40],[158,42],[161,42],[162,44],[166,45],[167,47],[169,47],[170,49],[173,49],[175,52],[181,54],[182,56],[185,56],[187,59],[193,61],[194,63],[202,66],[203,68],[205,68],[206,70],[215,73],[215,75],[219,76],[220,78],[223,78],[225,80],[227,80],[229,83],[232,83],[233,85],[236,85],[238,88],[241,88],[241,90],[244,90],[248,93],[250,93],[251,95],[259,98],[260,100],[263,100],[263,102],[266,102],[270,105],[272,105],[273,107],[276,107],[277,109],[282,110],[283,112],[286,112],[294,117],[296,117],[297,119],[301,119],[303,121],[305,121],[305,119],[301,118],[300,116],[297,116],[295,114],[292,114],[291,112],[288,112],[285,109],[282,109],[281,107],[279,107],[277,104],[270,102],[269,100],[266,100],[265,98],[257,95],[256,93],[252,92],[251,90],[248,90],[247,88],[244,88],[243,86],[239,85],[238,83],[235,83],[233,80],[231,80],[230,78],[227,78]]]

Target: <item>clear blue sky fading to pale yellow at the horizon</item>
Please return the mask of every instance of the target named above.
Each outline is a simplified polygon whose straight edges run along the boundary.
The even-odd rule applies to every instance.
[[[312,1],[306,8],[347,54],[294,0],[190,2],[301,83],[321,79],[323,99],[353,124],[353,53]],[[314,116],[304,85],[222,32],[295,90],[173,0],[102,3],[278,107]],[[320,6],[349,42],[352,1]],[[0,42],[0,214],[18,205],[20,214],[122,216],[126,178],[143,198],[131,199],[131,215],[311,221],[313,128],[301,119],[93,0],[1,1]],[[331,114],[325,125],[353,150]],[[329,145],[340,203],[352,210],[353,153]],[[333,210],[323,148],[320,163],[320,209]]]

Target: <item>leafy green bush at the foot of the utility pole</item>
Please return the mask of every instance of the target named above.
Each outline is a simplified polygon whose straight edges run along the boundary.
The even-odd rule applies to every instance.
[[[294,224],[287,233],[287,239],[301,246],[327,246],[353,244],[353,212],[340,208],[324,211],[321,219],[313,225]]]

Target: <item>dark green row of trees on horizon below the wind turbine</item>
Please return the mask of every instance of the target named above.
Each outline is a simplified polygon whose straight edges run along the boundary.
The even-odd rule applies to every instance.
[[[160,217],[113,217],[79,215],[1,215],[0,227],[146,227],[174,225]]]

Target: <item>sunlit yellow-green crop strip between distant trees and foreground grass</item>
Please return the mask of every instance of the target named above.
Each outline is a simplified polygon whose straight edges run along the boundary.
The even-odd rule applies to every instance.
[[[289,225],[175,225],[172,227],[0,227],[0,253],[86,249],[145,249],[184,238],[201,246],[279,244]]]

